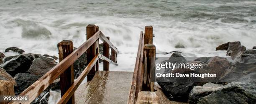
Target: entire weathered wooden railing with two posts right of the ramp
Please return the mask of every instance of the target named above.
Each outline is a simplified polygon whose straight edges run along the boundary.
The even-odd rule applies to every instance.
[[[153,27],[146,26],[145,34],[142,31],[140,34],[128,104],[136,104],[138,93],[141,91],[154,92],[156,47],[152,44]]]

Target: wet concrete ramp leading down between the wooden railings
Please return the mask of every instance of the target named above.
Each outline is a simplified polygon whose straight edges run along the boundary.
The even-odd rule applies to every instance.
[[[75,92],[76,104],[126,104],[133,72],[98,71]]]

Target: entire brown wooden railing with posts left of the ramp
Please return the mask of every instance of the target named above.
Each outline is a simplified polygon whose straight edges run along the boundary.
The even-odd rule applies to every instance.
[[[30,87],[24,90],[18,96],[28,96],[28,101],[22,102],[13,100],[9,104],[27,104],[33,102],[41,92],[43,92],[50,84],[60,76],[61,83],[61,99],[58,104],[74,104],[74,92],[79,87],[81,82],[87,76],[87,81],[92,80],[95,71],[99,68],[99,59],[104,60],[103,70],[109,70],[109,62],[117,65],[117,48],[109,41],[109,37],[105,37],[99,27],[88,25],[86,27],[87,41],[84,42],[73,52],[72,41],[62,41],[58,44],[59,47],[59,64],[53,67],[49,72],[44,74],[40,79],[34,82]],[[99,53],[99,39],[103,41],[103,54]],[[109,47],[111,48],[111,60],[109,58]],[[73,63],[84,53],[87,52],[87,62],[89,64],[74,81]]]

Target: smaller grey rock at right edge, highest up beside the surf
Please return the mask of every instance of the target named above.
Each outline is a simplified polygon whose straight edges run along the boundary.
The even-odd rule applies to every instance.
[[[256,62],[256,50],[246,50],[240,58],[243,63],[254,63]]]

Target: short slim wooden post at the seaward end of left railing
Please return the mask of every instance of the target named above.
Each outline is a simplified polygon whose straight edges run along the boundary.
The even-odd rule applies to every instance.
[[[109,40],[109,37],[107,37]],[[103,55],[107,58],[109,58],[109,45],[107,42],[103,42]],[[106,60],[103,60],[103,70],[108,71],[109,70],[109,62]]]

